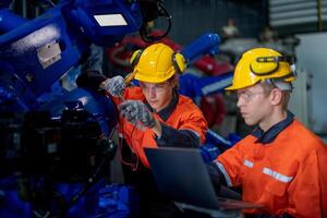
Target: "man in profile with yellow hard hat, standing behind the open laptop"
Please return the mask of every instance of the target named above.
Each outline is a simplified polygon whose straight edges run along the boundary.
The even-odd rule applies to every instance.
[[[327,217],[327,147],[287,106],[295,80],[290,58],[268,48],[243,53],[227,90],[254,131],[209,167],[214,181],[241,186],[247,213]]]

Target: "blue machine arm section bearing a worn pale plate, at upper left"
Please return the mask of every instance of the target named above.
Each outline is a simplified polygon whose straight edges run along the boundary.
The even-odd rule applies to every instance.
[[[53,9],[51,14],[27,22],[0,37],[0,62],[4,66],[0,85],[10,90],[24,108],[36,109],[37,97],[77,64],[81,51],[63,31],[65,28],[60,10]],[[51,57],[44,60],[39,49],[51,44],[62,45],[63,49],[53,55],[53,59],[59,59],[57,62],[44,66],[41,62],[50,61]]]

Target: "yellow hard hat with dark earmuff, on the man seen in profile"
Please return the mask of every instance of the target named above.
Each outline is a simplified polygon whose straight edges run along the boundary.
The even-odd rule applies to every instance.
[[[244,52],[238,62],[232,85],[226,90],[237,90],[266,80],[291,83],[295,80],[291,57],[269,48],[255,48]]]

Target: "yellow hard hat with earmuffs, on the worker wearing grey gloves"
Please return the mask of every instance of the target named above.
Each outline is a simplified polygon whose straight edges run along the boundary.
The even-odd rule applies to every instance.
[[[186,69],[185,59],[165,44],[154,44],[132,55],[131,64],[135,78],[148,83],[161,83],[174,73]]]

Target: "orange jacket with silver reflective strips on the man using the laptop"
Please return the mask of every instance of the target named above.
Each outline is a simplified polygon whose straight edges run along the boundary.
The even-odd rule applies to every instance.
[[[327,217],[327,147],[323,141],[290,112],[262,137],[270,138],[264,142],[254,131],[216,160],[227,184],[242,186],[244,201],[265,205],[264,210],[250,213]]]

